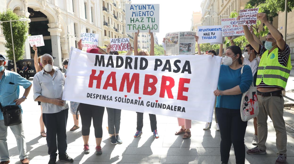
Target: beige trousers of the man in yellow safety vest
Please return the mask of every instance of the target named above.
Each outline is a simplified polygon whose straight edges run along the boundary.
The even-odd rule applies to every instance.
[[[282,95],[282,94],[281,94]],[[276,131],[276,146],[278,154],[287,152],[287,133],[285,128],[284,113],[284,98],[279,96],[262,97],[257,95],[259,114],[257,116],[257,146],[261,150],[266,150],[265,142],[268,137],[268,116],[273,121],[273,126]]]

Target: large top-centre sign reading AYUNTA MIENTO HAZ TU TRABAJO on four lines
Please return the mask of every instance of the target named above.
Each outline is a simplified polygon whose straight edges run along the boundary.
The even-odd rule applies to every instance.
[[[159,4],[126,4],[126,32],[159,32]]]

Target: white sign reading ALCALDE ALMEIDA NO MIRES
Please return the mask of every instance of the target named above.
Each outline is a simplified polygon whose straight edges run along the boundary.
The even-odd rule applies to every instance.
[[[81,33],[82,47],[84,48],[96,48],[99,40],[98,34],[93,33]]]

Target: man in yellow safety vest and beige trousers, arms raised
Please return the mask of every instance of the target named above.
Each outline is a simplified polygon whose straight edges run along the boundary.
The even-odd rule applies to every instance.
[[[239,18],[240,16],[237,20]],[[283,35],[268,21],[265,13],[258,13],[257,18],[268,27],[270,33],[266,36],[266,42],[263,46],[253,39],[247,25],[243,26],[246,39],[261,56],[256,79],[259,106],[257,116],[258,143],[255,148],[249,149],[247,153],[266,154],[267,119],[270,116],[277,137],[278,158],[275,163],[282,164],[286,162],[287,157],[287,133],[283,118],[284,98],[282,90],[286,87],[292,68],[290,48],[283,40]]]

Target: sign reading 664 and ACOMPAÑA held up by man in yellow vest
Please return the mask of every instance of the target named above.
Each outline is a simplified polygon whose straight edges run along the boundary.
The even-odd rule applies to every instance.
[[[259,8],[253,9],[242,9],[239,12],[240,19],[237,21],[238,25],[252,25],[256,24],[257,18],[256,15],[258,13]]]

